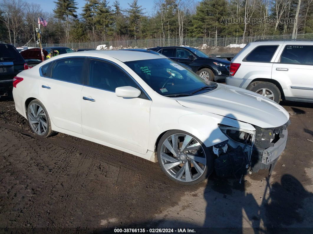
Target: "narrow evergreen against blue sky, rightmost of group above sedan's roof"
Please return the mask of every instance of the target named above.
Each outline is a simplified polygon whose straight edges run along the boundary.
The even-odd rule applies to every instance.
[[[130,8],[127,9],[127,12],[129,14],[128,20],[129,20],[129,28],[132,35],[136,38],[136,35],[139,32],[139,25],[141,17],[143,16],[143,8],[142,6],[138,5],[138,0],[133,0],[131,4],[128,3]]]

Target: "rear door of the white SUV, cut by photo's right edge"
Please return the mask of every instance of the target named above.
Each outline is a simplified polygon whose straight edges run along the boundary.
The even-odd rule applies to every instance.
[[[272,68],[287,100],[313,101],[313,45],[285,42]]]

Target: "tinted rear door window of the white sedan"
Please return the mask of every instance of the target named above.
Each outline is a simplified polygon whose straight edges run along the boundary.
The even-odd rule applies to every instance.
[[[85,58],[68,58],[54,63],[51,77],[54,79],[83,84]]]

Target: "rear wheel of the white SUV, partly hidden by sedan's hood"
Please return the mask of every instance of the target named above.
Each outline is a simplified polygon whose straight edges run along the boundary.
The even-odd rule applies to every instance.
[[[260,95],[264,97],[268,97],[274,102],[277,102],[277,103],[280,102],[280,98],[281,98],[280,90],[273,83],[256,81],[256,82],[252,82],[247,89],[252,92],[259,93]]]

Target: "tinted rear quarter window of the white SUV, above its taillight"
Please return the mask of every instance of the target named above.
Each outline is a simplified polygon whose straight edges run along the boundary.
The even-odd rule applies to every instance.
[[[278,46],[258,46],[245,58],[247,62],[270,62]]]

